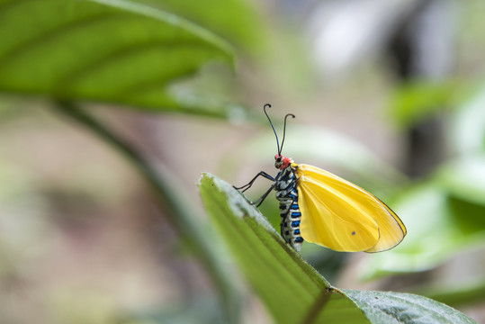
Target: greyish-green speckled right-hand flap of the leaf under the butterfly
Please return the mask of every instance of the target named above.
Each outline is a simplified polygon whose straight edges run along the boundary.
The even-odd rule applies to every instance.
[[[373,323],[475,323],[463,313],[410,293],[344,290]]]

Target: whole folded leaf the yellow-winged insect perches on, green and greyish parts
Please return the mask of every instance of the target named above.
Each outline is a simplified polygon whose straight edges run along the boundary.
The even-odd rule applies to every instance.
[[[431,319],[472,323],[460,312],[425,297],[332,287],[230,184],[204,174],[199,186],[213,224],[275,322],[387,324]]]

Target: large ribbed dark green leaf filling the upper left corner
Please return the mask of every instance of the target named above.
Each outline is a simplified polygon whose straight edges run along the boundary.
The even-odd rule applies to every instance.
[[[184,19],[123,0],[0,0],[0,91],[220,113],[171,90],[229,45]]]

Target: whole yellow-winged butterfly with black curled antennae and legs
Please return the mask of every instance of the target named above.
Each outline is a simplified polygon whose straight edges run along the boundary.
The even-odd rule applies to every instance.
[[[283,157],[286,132],[284,117],[283,140],[280,147],[274,125],[278,153],[274,166],[276,176],[259,172],[249,183],[235,187],[244,193],[263,176],[273,184],[254,204],[258,207],[273,190],[280,202],[281,235],[296,251],[304,240],[342,252],[381,252],[396,247],[406,236],[407,229],[398,215],[384,202],[337,175],[316,166],[296,164]]]

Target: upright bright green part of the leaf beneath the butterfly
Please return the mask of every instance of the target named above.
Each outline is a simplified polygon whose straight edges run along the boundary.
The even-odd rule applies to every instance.
[[[366,322],[241,193],[214,175],[204,174],[199,185],[212,222],[276,322],[298,323],[324,316],[320,312],[326,313],[328,323]]]

